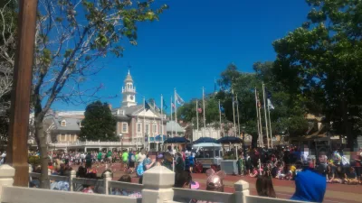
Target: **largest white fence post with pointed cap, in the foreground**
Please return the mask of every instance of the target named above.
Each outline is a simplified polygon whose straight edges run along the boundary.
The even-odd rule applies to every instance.
[[[175,172],[164,166],[155,166],[143,174],[142,203],[172,201]]]

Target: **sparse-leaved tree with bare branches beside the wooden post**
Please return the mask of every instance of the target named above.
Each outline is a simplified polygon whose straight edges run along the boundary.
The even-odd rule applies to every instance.
[[[121,57],[124,42],[136,45],[140,22],[157,21],[167,5],[142,0],[39,0],[33,65],[33,111],[36,141],[42,156],[41,187],[49,188],[44,115],[52,104],[94,100],[101,84],[84,89],[102,67],[102,57]]]

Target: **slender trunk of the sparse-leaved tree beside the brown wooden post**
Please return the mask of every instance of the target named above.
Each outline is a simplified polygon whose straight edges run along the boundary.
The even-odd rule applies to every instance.
[[[43,130],[43,117],[41,115],[35,116],[35,136],[40,151],[40,161],[42,167],[42,176],[40,178],[40,187],[42,189],[50,189],[50,180],[48,176],[48,152],[46,145],[46,136]]]

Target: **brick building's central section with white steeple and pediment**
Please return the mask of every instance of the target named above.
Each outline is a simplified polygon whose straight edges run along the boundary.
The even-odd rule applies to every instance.
[[[136,97],[136,87],[129,73],[122,87],[121,106],[111,109],[117,120],[119,141],[138,149],[157,149],[159,143],[163,142],[163,134],[166,134],[167,116],[152,107],[145,109],[145,104],[138,105]]]

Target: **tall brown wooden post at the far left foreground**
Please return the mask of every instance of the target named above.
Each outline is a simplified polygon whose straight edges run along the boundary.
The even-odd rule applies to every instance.
[[[37,0],[19,2],[17,49],[6,162],[15,169],[14,186],[28,187],[28,127]]]

